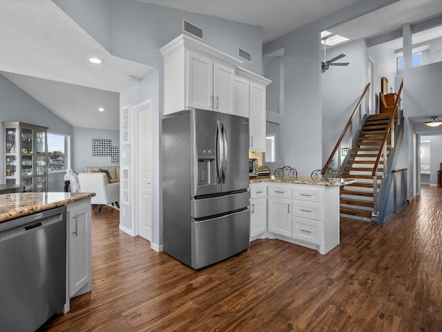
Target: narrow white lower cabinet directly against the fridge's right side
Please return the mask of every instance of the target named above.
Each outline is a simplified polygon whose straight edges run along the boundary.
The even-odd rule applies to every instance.
[[[250,239],[267,232],[267,185],[250,185]]]

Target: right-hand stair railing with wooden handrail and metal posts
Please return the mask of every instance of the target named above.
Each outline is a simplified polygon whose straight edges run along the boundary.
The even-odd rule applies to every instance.
[[[397,116],[397,122],[400,122],[400,114],[398,113],[398,101],[401,99],[401,93],[402,93],[402,88],[403,88],[403,80],[401,82],[401,86],[399,86],[399,90],[398,90],[398,94],[397,94],[397,98],[396,101],[394,102],[394,108],[392,113],[390,114],[390,119],[388,120],[387,123],[387,127],[385,128],[385,133],[381,142],[381,147],[379,149],[378,152],[378,156],[376,158],[376,161],[374,162],[374,166],[373,166],[373,172],[372,172],[372,176],[373,176],[373,216],[377,216],[378,215],[378,201],[377,201],[377,194],[378,194],[378,186],[377,186],[377,181],[376,179],[376,172],[378,171],[378,167],[379,167],[379,163],[381,163],[381,157],[382,157],[382,163],[384,165],[383,167],[383,172],[384,172],[384,177],[387,176],[387,145],[385,144],[385,142],[387,142],[387,138],[388,138],[388,134],[391,131],[391,139],[392,139],[392,143],[391,143],[391,147],[394,147],[394,118],[395,116]]]

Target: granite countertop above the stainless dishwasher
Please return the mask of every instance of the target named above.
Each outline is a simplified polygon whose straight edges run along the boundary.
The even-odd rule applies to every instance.
[[[0,223],[95,196],[95,192],[21,192],[0,194]]]

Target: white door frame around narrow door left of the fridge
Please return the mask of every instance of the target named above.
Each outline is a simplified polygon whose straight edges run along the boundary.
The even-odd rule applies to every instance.
[[[138,131],[138,121],[137,119],[140,116],[140,112],[144,111],[145,109],[148,109],[152,113],[152,99],[144,100],[144,102],[140,102],[140,104],[136,104],[135,106],[131,107],[131,215],[132,215],[132,232],[133,236],[136,237],[140,235],[140,215],[138,212],[140,211],[140,196],[138,195],[138,192],[140,192],[140,181],[139,181],[139,172],[140,169],[138,167],[138,163],[140,161],[140,158],[138,158],[139,154],[138,151],[140,149],[139,144],[139,136],[140,133]],[[152,128],[151,128],[152,132]],[[152,243],[152,242],[151,242]]]

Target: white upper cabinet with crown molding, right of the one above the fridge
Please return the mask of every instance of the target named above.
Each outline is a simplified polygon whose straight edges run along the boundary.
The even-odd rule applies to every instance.
[[[249,118],[249,149],[265,152],[265,90],[271,80],[236,68],[233,113]]]

